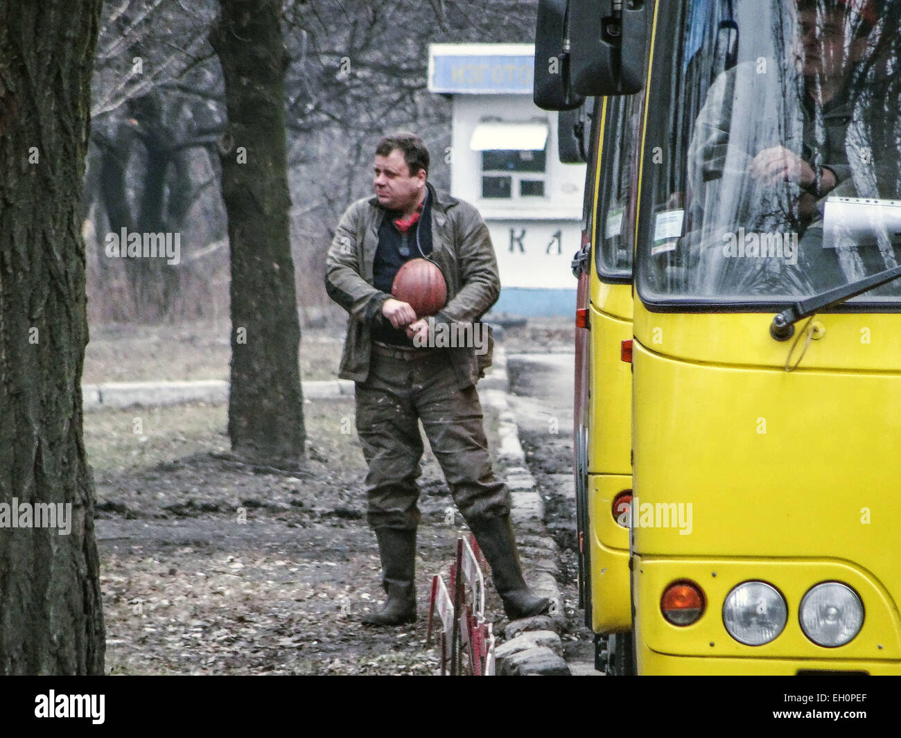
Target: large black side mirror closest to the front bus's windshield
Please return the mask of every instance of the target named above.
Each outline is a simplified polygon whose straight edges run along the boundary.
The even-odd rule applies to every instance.
[[[622,9],[614,14],[614,5]],[[569,74],[579,95],[633,95],[644,87],[650,0],[571,0]]]

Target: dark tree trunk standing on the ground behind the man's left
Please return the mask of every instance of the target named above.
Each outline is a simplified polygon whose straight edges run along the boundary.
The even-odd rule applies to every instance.
[[[299,461],[305,429],[288,230],[281,0],[220,0],[210,41],[222,62],[228,130],[222,193],[232,247],[229,436],[241,455]]]

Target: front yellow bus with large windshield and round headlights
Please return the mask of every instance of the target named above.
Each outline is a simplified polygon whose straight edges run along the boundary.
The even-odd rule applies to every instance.
[[[651,23],[637,672],[901,673],[901,4],[568,12],[582,94],[633,85]]]

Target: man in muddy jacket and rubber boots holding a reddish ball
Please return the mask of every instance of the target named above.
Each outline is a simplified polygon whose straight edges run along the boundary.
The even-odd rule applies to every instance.
[[[419,420],[491,565],[506,615],[538,615],[550,603],[523,579],[510,494],[491,467],[476,392],[491,361],[490,342],[478,354],[472,345],[417,348],[429,343],[430,324],[390,295],[398,269],[415,258],[432,260],[447,282],[447,304],[434,317],[438,325],[478,322],[500,291],[487,226],[472,205],[432,187],[428,170],[429,152],[418,136],[401,132],[379,141],[376,195],[341,217],[326,262],[326,290],[350,315],[339,376],[356,382],[357,432],[369,464],[367,517],[387,592],[382,610],[363,622],[416,618]]]

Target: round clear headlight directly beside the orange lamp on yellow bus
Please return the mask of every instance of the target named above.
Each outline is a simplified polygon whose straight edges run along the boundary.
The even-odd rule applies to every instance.
[[[723,604],[723,624],[729,634],[747,646],[769,643],[785,629],[788,606],[778,589],[766,582],[744,582]]]

